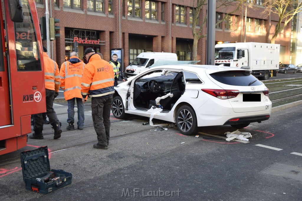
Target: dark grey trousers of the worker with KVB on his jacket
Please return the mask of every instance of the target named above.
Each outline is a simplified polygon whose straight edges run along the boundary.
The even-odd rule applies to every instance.
[[[110,109],[112,96],[91,98],[92,121],[98,136],[98,145],[105,147],[110,138]]]

